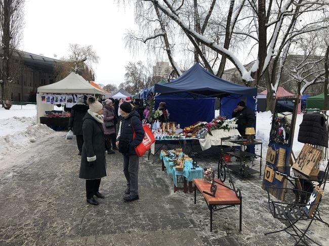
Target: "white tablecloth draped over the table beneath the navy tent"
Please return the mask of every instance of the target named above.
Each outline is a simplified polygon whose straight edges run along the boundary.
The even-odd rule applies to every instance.
[[[199,143],[201,145],[202,151],[208,150],[212,145],[234,145],[232,142],[224,142],[222,143],[222,138],[224,137],[231,137],[231,136],[240,136],[240,133],[237,129],[231,129],[231,130],[224,130],[224,129],[218,129],[218,130],[212,130],[211,131],[213,135],[210,135],[207,133],[205,137],[202,139],[199,139]]]

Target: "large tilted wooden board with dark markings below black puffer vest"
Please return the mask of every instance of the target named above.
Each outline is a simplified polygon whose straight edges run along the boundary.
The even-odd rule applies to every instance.
[[[322,152],[311,145],[304,144],[303,149],[298,155],[293,170],[298,177],[310,178],[316,165],[319,163]]]

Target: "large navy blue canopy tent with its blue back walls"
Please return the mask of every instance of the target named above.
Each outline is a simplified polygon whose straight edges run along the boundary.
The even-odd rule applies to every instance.
[[[218,78],[196,63],[174,81],[167,84],[155,84],[154,93],[161,93],[160,96],[163,96],[164,94],[173,94],[176,95],[177,98],[180,98],[182,101],[178,102],[176,100],[177,106],[175,107],[175,110],[183,104],[189,104],[190,108],[200,107],[200,101],[184,100],[184,98],[201,99],[203,97],[203,99],[205,99],[207,97],[212,97],[214,100],[215,97],[219,97],[221,99],[220,114],[232,118],[232,111],[236,108],[239,101],[243,100],[246,102],[248,108],[252,110],[255,109],[257,88],[234,84]],[[157,100],[157,97],[158,96],[155,97],[155,106],[160,101]],[[215,109],[213,105],[214,103],[208,106],[208,111],[214,118]],[[173,110],[169,107],[167,108],[169,111]],[[190,118],[190,121],[197,121],[196,118],[194,119],[195,114],[189,114],[188,117]],[[201,120],[209,121],[209,117],[210,116],[207,116],[207,119]],[[180,121],[185,121],[186,118],[186,115],[182,115],[179,120],[175,119],[175,121],[179,123]]]

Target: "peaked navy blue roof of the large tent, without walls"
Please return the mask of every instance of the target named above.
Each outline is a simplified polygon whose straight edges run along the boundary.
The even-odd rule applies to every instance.
[[[169,94],[190,92],[204,96],[223,97],[228,94],[256,96],[257,88],[234,84],[211,74],[198,63],[167,84],[155,84],[154,92]]]

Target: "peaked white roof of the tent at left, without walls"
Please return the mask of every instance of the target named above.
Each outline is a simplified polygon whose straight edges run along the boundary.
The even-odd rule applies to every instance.
[[[37,88],[38,93],[86,93],[86,94],[101,94],[105,93],[90,85],[80,75],[71,72],[64,79],[49,85],[39,86]]]

